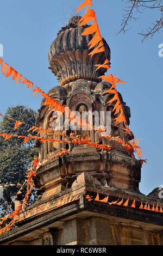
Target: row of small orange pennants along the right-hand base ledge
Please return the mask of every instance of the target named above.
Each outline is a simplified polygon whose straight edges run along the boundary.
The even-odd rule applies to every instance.
[[[129,205],[129,198],[127,200],[124,200],[123,198],[122,199],[118,199],[116,201],[112,201],[112,202],[109,202],[109,195],[104,197],[103,199],[99,199],[99,193],[97,192],[97,196],[95,199],[92,199],[92,197],[90,197],[89,194],[87,194],[87,196],[85,197],[89,202],[91,202],[91,200],[93,201],[96,201],[96,202],[102,202],[102,203],[106,203],[106,204],[109,204],[109,205],[121,205],[121,206],[128,206],[128,207],[131,207],[131,208],[137,208],[136,206],[136,199],[133,200],[133,203],[131,203]],[[119,201],[119,202],[118,202]],[[132,200],[131,200],[132,202]],[[158,205],[158,204],[154,204],[152,205],[152,207],[150,206],[150,203],[143,203],[141,202],[140,206],[138,207],[139,209],[143,209],[143,210],[149,210],[149,211],[155,211],[155,212],[163,212],[162,210],[162,206]],[[160,209],[159,209],[160,208]]]

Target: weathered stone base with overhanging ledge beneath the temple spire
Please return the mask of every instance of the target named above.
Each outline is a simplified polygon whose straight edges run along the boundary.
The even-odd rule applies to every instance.
[[[97,192],[100,198],[108,194],[108,202],[130,198],[131,205],[135,198],[136,208],[85,199],[87,194],[95,198]],[[64,205],[54,203],[71,193],[83,196]],[[0,236],[0,245],[163,245],[162,213],[139,209],[141,202],[163,206],[159,200],[140,193],[80,184],[24,209],[26,218],[17,229]],[[49,210],[44,211],[47,203]],[[36,214],[29,215],[35,208]]]

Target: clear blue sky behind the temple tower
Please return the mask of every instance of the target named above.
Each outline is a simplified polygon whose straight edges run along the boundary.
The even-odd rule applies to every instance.
[[[80,0],[8,0],[1,1],[0,44],[3,59],[23,76],[48,92],[58,82],[48,70],[48,51],[58,31],[68,23]],[[162,34],[141,42],[138,34],[158,18],[156,10],[146,10],[137,22],[130,23],[126,34],[120,30],[124,2],[121,0],[93,0],[101,34],[111,48],[109,74],[128,83],[118,83],[117,89],[131,108],[130,128],[141,139],[147,164],[143,164],[140,191],[148,194],[163,185],[162,173],[162,65],[159,45]],[[83,15],[83,12],[80,13]],[[33,96],[26,86],[0,75],[0,112],[8,106],[23,104],[40,107],[39,95]]]

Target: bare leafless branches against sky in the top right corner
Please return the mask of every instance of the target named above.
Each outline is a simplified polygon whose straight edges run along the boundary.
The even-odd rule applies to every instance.
[[[148,39],[149,36],[151,38],[155,33],[163,32],[163,0],[122,0],[126,1],[126,10],[124,10],[125,14],[123,15],[122,25],[120,32],[126,32],[129,30],[128,25],[131,20],[137,20],[139,18],[135,17],[135,13],[142,13],[146,9],[157,9],[158,10],[158,19],[153,21],[152,24],[146,29],[145,32],[139,33],[143,36],[143,40]]]

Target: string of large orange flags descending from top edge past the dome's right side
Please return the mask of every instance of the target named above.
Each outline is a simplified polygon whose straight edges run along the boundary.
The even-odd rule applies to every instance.
[[[87,27],[84,30],[84,32],[82,33],[83,36],[95,33],[95,35],[93,36],[93,38],[91,39],[91,41],[88,44],[88,46],[90,46],[89,50],[96,46],[94,48],[94,50],[89,53],[89,55],[91,55],[91,57],[92,57],[94,54],[97,54],[99,52],[105,52],[105,48],[104,48],[104,43],[103,43],[103,37],[99,31],[96,13],[93,9],[90,9],[92,7],[92,0],[85,0],[82,4],[80,4],[79,8],[76,10],[75,13],[82,10],[86,6],[87,6],[87,9],[86,9],[83,17],[79,20],[78,26],[80,27],[80,26],[86,25],[88,22],[91,22],[91,21],[93,22],[92,25]],[[106,56],[106,53],[105,53],[105,56]],[[109,60],[107,58],[102,65],[95,65],[95,66],[98,67],[96,70],[98,70],[100,68],[110,69]],[[100,76],[99,78],[102,78],[102,80],[111,83],[111,88],[109,90],[106,90],[104,92],[104,94],[112,93],[112,94],[114,94],[114,97],[112,97],[112,99],[107,103],[109,103],[109,105],[111,105],[112,102],[116,101],[113,112],[114,112],[114,115],[118,114],[118,117],[115,118],[115,123],[116,124],[123,123],[124,127],[121,125],[121,128],[131,136],[130,128],[127,125],[127,120],[126,120],[126,117],[125,117],[125,114],[123,111],[123,107],[121,105],[120,97],[119,97],[117,89],[116,89],[116,83],[117,82],[124,83],[124,81],[120,80],[117,77],[114,77],[112,74],[106,75],[106,76]],[[139,141],[135,141],[135,138],[134,138],[134,141],[131,145],[133,146],[134,151],[139,156],[139,159],[142,164],[143,162],[146,162],[147,160],[142,160],[142,156],[143,156],[142,150],[138,146],[138,144],[139,144]]]

